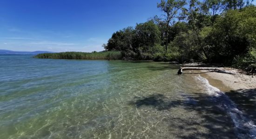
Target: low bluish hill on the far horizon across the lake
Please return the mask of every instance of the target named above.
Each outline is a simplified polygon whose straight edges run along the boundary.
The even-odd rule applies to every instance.
[[[10,51],[0,50],[0,55],[37,55],[42,53],[54,53],[51,51]]]

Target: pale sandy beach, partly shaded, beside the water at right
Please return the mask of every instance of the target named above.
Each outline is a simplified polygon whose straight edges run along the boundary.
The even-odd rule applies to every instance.
[[[238,69],[223,68],[236,75],[209,70],[186,70],[208,79],[209,83],[229,96],[243,115],[256,123],[256,76],[246,75]]]

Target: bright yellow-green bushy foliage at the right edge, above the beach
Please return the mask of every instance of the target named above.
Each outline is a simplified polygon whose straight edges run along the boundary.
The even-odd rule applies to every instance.
[[[235,57],[243,56],[251,47],[255,48],[255,25],[256,7],[224,13],[208,34],[202,33],[205,44],[208,44],[209,60],[231,64]]]

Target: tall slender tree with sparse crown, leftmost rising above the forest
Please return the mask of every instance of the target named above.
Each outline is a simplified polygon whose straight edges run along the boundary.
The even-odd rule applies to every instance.
[[[186,0],[161,0],[161,3],[157,4],[157,7],[161,9],[164,17],[162,20],[166,23],[166,45],[165,45],[165,52],[167,53],[168,47],[168,28],[171,23],[173,25],[179,19],[179,11],[182,10],[182,7],[186,4]]]

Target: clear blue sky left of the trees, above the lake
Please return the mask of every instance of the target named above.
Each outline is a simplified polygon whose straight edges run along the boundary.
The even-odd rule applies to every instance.
[[[102,51],[113,32],[160,15],[160,0],[0,0],[0,49]]]

